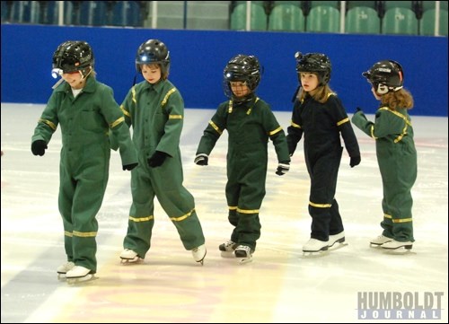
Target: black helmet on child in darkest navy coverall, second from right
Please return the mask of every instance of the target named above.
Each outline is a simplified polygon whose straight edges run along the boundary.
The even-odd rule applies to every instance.
[[[321,53],[307,53],[303,55],[301,52],[296,52],[296,73],[298,80],[301,83],[301,72],[311,72],[318,74],[319,85],[325,85],[330,81],[330,72],[332,66],[330,65],[329,57]]]

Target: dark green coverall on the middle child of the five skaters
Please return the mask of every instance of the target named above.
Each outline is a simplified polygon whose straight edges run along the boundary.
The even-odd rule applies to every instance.
[[[273,141],[277,161],[288,163],[286,134],[267,102],[255,96],[241,104],[225,101],[209,121],[197,154],[209,155],[225,129],[228,132],[225,191],[229,223],[234,226],[231,241],[254,251],[260,238],[259,210],[265,197],[268,142]]]

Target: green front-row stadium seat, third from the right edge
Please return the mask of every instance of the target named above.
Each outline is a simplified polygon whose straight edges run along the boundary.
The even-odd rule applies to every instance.
[[[381,20],[373,8],[355,7],[348,10],[345,31],[359,34],[379,34]]]

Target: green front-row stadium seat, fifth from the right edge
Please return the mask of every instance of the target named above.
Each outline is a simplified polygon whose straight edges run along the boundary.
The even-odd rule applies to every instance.
[[[304,31],[304,14],[294,4],[276,4],[269,15],[269,31]]]

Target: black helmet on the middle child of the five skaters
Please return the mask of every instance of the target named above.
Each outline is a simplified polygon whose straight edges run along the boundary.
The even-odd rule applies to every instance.
[[[246,101],[252,98],[260,83],[260,64],[257,57],[239,54],[229,60],[223,71],[224,90],[226,96],[233,101]],[[251,90],[245,98],[236,98],[231,90],[230,82],[241,81]]]

